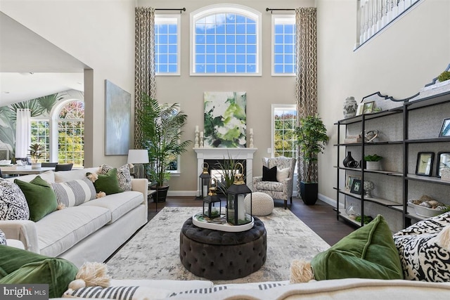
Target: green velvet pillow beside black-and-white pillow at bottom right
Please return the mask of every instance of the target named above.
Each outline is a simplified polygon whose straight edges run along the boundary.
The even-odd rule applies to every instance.
[[[314,279],[403,279],[392,233],[383,216],[342,238],[311,261]]]

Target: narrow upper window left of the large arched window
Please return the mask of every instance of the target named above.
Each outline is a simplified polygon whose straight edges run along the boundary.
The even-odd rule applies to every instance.
[[[155,15],[156,75],[180,74],[180,15]]]

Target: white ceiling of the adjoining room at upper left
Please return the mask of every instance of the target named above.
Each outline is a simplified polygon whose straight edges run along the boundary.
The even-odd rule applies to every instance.
[[[75,89],[81,61],[0,12],[0,106]]]

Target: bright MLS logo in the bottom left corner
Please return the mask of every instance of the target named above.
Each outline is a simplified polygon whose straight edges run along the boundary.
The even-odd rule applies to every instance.
[[[48,300],[49,285],[0,285],[0,299]]]

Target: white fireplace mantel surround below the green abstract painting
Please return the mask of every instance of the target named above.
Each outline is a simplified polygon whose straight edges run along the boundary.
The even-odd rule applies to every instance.
[[[203,171],[205,159],[245,159],[247,186],[253,190],[253,154],[258,148],[193,148],[197,153],[197,174]],[[197,178],[197,196],[200,195],[200,178]]]

